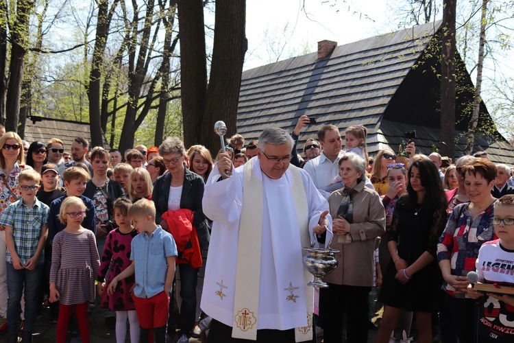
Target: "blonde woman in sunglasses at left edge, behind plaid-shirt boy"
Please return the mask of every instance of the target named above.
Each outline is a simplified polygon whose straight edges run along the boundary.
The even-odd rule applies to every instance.
[[[0,215],[12,202],[19,200],[18,176],[25,169],[23,142],[15,132],[6,132],[0,138]],[[7,271],[5,265],[5,228],[0,226],[0,333],[7,331]]]

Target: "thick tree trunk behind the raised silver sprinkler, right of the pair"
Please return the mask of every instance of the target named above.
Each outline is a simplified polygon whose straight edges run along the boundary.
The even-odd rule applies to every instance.
[[[219,137],[214,132],[216,121],[225,121],[228,137],[236,133],[239,88],[247,50],[245,14],[245,1],[216,1],[215,37],[206,111],[198,137],[213,154],[220,148]]]

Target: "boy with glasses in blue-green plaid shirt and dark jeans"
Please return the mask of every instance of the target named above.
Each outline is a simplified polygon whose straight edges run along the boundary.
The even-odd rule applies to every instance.
[[[23,342],[32,342],[32,328],[38,311],[43,248],[48,233],[49,207],[36,198],[40,175],[27,169],[19,175],[22,198],[3,211],[0,225],[5,226],[7,244],[7,324],[9,342],[18,342],[21,292],[25,286],[25,327]]]

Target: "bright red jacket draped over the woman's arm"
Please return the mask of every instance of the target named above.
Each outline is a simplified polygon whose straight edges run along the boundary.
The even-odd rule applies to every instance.
[[[162,219],[168,224],[168,232],[171,233],[179,256],[177,263],[191,263],[193,268],[201,268],[201,250],[198,241],[198,235],[195,226],[193,226],[193,217],[195,212],[190,209],[179,209],[177,211],[169,210],[162,214]],[[188,242],[191,241],[191,247],[186,248]]]

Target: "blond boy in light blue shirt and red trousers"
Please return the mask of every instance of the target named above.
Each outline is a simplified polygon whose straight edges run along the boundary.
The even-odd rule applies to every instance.
[[[154,329],[156,342],[164,343],[177,247],[173,236],[156,225],[156,207],[151,200],[137,201],[130,206],[128,215],[139,231],[131,243],[132,264],[112,279],[107,292],[111,295],[119,281],[135,273],[132,298],[141,328],[139,342],[148,342],[149,332]]]

